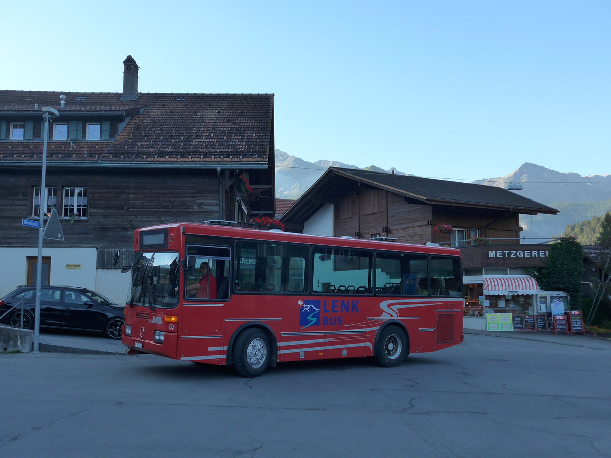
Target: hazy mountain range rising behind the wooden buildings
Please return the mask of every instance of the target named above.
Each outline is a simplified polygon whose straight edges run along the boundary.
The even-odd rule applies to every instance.
[[[321,160],[307,162],[285,151],[276,150],[276,198],[296,199],[304,194],[329,167],[359,169],[356,165]],[[397,169],[384,170],[375,165],[365,170],[398,173]],[[556,215],[523,215],[520,219],[525,238],[551,238],[563,233],[567,224],[604,216],[611,210],[611,174],[587,175],[556,172],[541,165],[526,162],[505,176],[482,178],[475,184],[505,187],[520,184],[524,197],[560,210]],[[535,242],[532,240],[531,242]]]

